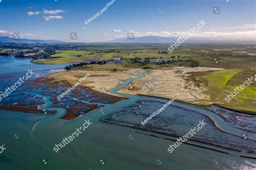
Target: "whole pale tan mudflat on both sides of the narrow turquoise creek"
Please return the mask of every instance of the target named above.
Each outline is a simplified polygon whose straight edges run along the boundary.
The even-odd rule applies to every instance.
[[[193,72],[206,72],[224,70],[212,67],[173,67],[171,69],[143,70],[139,68],[125,71],[89,71],[71,70],[50,74],[46,77],[51,83],[75,84],[76,81],[90,72],[80,85],[90,87],[93,90],[109,93],[114,87],[120,86],[125,80],[137,78],[138,73],[143,73],[144,78],[131,81],[130,85],[117,92],[126,94],[142,94],[146,96],[177,98],[177,100],[211,100],[207,86],[195,85],[190,79]],[[62,81],[62,80],[65,80]],[[113,95],[113,94],[112,94]]]

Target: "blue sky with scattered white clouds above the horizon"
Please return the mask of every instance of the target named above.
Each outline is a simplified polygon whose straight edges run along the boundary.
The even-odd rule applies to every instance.
[[[134,37],[172,37],[183,35],[204,20],[206,24],[194,37],[255,40],[255,0],[110,3],[111,0],[0,0],[0,36],[18,32],[20,38],[65,42],[107,42],[126,37],[128,32],[133,32]],[[98,11],[101,14],[86,24]],[[71,39],[70,32],[76,32],[77,39]]]

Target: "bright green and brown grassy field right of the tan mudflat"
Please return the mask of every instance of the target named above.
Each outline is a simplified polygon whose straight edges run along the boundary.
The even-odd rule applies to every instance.
[[[234,88],[242,85],[247,78],[254,75],[242,74],[242,70],[223,70],[193,74],[192,76],[203,81],[208,86],[208,93],[212,98],[212,103],[232,108],[234,110],[256,112],[256,82],[246,86],[237,96],[231,99],[229,103],[225,101],[227,94],[231,94]],[[196,81],[199,81],[196,80]],[[254,80],[254,79],[253,79]],[[204,103],[204,101],[201,101]]]

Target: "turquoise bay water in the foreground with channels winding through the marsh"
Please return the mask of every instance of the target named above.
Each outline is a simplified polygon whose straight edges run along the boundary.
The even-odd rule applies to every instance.
[[[25,67],[26,65],[18,63],[15,64],[18,71],[28,69]],[[38,70],[45,68],[43,65],[31,64],[30,66],[35,66]],[[12,66],[5,63],[5,67]],[[15,67],[6,72],[3,70],[1,73],[13,71],[15,71]],[[138,73],[138,79],[142,77],[143,74]],[[116,93],[117,90],[129,85],[130,81],[125,81],[122,86],[112,89],[110,92]],[[37,94],[37,92],[33,94]],[[138,100],[154,100],[164,103],[167,101],[124,95],[129,97],[129,100],[124,99],[116,104],[107,104],[106,107],[99,108],[75,120],[59,119],[66,113],[65,109],[50,108],[51,101],[47,96],[42,96],[46,103],[43,108],[57,110],[55,115],[0,110],[0,146],[5,144],[6,147],[6,150],[0,154],[0,169],[253,169],[256,166],[255,159],[242,158],[236,152],[220,148],[220,151],[230,154],[187,144],[182,144],[170,154],[167,152],[167,148],[174,141],[163,138],[176,140],[174,137],[100,122],[99,119],[120,111],[123,107],[134,104]],[[228,124],[211,111],[177,102],[174,102],[173,105],[208,115],[221,129],[241,135],[241,130]],[[151,107],[158,108],[157,105]],[[151,114],[151,112],[149,113]],[[59,144],[64,137],[75,132],[76,128],[82,126],[84,120],[88,119],[92,123],[88,129],[60,149],[58,153],[53,151],[55,144]],[[187,117],[184,120],[187,122],[184,122],[183,130],[186,131],[187,127],[191,126],[188,123],[190,120],[198,121],[196,115]],[[255,122],[251,128],[255,131]],[[211,132],[208,133],[210,135]],[[163,138],[152,137],[149,134]],[[248,133],[248,138],[255,139],[254,135]],[[206,146],[197,142],[191,142],[191,144]],[[104,160],[104,165],[100,165],[101,159]],[[47,163],[44,164],[43,160]]]

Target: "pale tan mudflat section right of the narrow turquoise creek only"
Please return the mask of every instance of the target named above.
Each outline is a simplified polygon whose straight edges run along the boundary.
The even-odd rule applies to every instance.
[[[146,96],[177,98],[177,100],[211,100],[206,92],[207,86],[195,85],[190,79],[192,72],[223,70],[211,67],[173,67],[172,69],[150,70],[145,77],[132,81],[130,87],[118,92],[127,94],[142,94]]]

